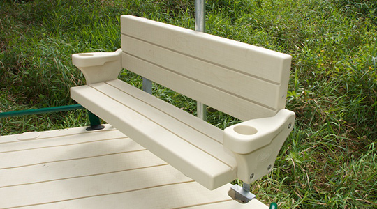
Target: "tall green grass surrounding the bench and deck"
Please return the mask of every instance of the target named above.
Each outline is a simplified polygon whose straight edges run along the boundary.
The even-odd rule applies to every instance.
[[[291,54],[287,109],[295,129],[274,171],[251,185],[281,208],[377,208],[377,3],[207,0],[207,33]],[[74,104],[77,52],[120,47],[119,16],[194,28],[193,1],[0,1],[0,110]],[[119,76],[136,86],[141,79]],[[154,85],[195,114],[195,101]],[[218,127],[235,118],[208,109]],[[84,111],[0,119],[0,134],[86,125]]]

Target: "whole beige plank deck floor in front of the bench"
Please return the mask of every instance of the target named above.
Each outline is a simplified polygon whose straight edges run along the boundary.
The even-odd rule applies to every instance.
[[[268,208],[209,191],[105,125],[0,137],[0,208]]]

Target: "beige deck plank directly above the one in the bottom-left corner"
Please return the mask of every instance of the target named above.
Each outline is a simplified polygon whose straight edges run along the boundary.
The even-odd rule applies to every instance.
[[[0,188],[156,167],[163,164],[166,163],[148,150],[36,164],[1,170],[0,179],[6,179],[6,181],[0,181]]]

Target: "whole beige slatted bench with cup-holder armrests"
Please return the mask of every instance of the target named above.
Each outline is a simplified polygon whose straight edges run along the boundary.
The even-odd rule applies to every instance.
[[[293,129],[287,54],[123,15],[121,49],[72,59],[87,82],[73,100],[208,189],[265,176]],[[117,79],[123,68],[244,122],[221,130]]]

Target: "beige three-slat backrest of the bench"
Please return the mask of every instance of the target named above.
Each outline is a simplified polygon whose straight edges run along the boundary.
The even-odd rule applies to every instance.
[[[290,55],[131,15],[121,49],[123,68],[241,120],[286,105]]]

